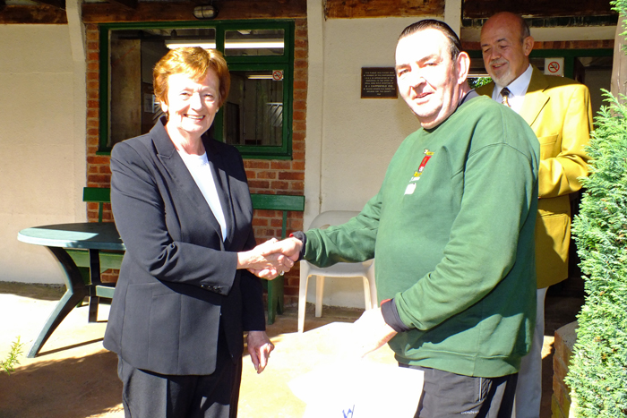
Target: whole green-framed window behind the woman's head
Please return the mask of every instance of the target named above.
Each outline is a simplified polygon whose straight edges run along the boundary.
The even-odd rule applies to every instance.
[[[217,48],[231,90],[211,126],[218,141],[245,158],[291,157],[294,23],[172,22],[100,26],[100,146],[149,132],[162,115],[152,68],[168,48]]]

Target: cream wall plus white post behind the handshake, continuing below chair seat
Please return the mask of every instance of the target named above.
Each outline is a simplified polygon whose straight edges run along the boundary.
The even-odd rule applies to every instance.
[[[379,191],[400,142],[419,128],[402,98],[361,98],[361,68],[393,67],[399,33],[417,19],[321,21],[312,12],[307,111],[316,115],[307,119],[305,226],[320,211],[362,209]],[[312,45],[312,38],[321,39],[322,47]],[[361,280],[327,279],[323,304],[363,308]]]

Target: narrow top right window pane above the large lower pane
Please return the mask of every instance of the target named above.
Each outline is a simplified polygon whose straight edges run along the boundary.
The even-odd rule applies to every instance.
[[[224,54],[242,55],[283,55],[283,30],[226,30]]]

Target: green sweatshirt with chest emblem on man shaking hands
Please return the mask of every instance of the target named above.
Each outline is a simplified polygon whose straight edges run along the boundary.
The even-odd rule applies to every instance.
[[[539,143],[510,108],[472,98],[403,141],[380,192],[342,226],[306,233],[319,266],[376,254],[379,301],[411,328],[399,363],[467,376],[520,369],[536,315]]]

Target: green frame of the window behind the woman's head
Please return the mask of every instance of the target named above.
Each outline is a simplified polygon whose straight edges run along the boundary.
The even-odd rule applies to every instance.
[[[225,33],[229,30],[282,30],[284,47],[282,55],[225,55],[230,71],[281,71],[282,127],[280,145],[236,145],[242,157],[258,159],[291,159],[292,156],[292,98],[294,80],[294,21],[169,21],[137,23],[103,23],[99,25],[99,155],[108,155],[111,95],[109,86],[109,39],[113,30],[167,30],[187,28],[213,28],[216,49],[225,52]],[[225,141],[225,112],[221,108],[214,120],[214,138]],[[141,124],[141,121],[138,121]]]

